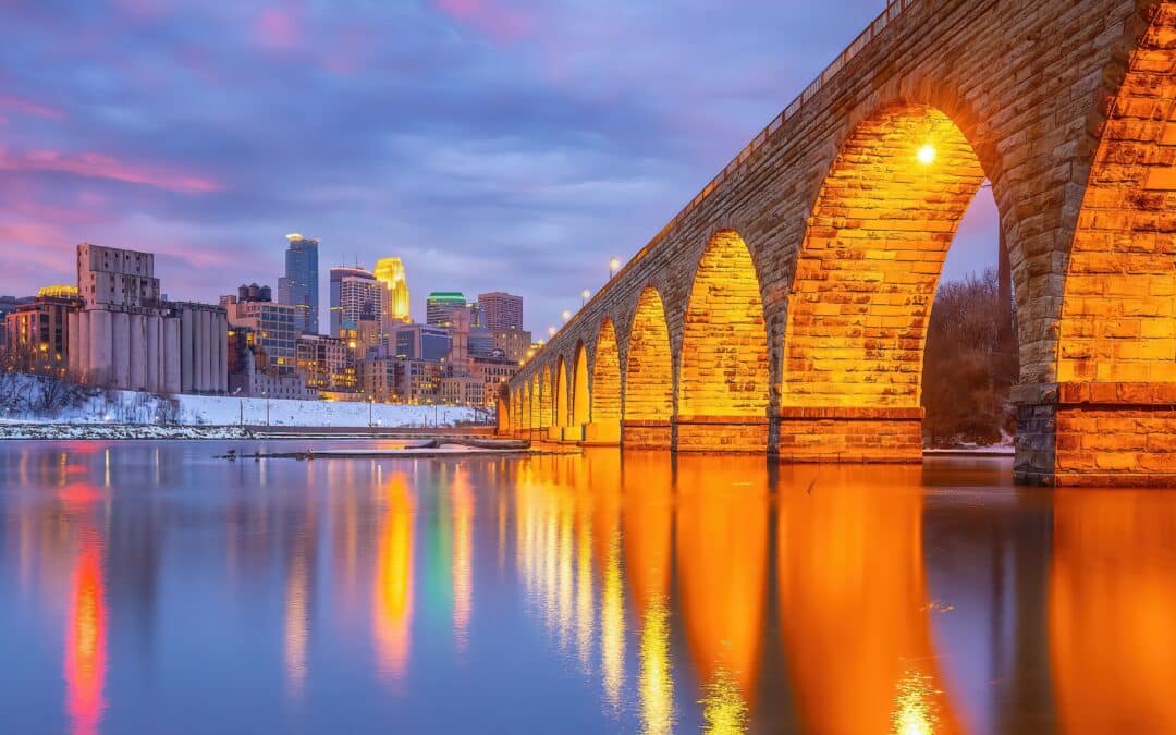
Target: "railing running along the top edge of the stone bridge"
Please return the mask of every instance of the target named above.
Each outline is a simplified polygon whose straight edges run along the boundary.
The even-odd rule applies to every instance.
[[[793,99],[793,101],[789,102],[787,107],[784,107],[783,112],[776,115],[771,120],[771,122],[768,123],[767,127],[760,131],[760,134],[753,138],[751,142],[744,146],[743,149],[740,151],[739,154],[734,159],[731,159],[731,161],[727,163],[727,166],[724,166],[721,172],[719,172],[719,175],[711,179],[707,183],[707,186],[702,187],[702,191],[699,192],[695,195],[695,198],[691,199],[689,203],[687,203],[686,207],[682,208],[681,212],[675,214],[674,218],[669,222],[667,222],[666,226],[662,227],[656,235],[654,235],[653,240],[650,240],[648,245],[641,248],[636,255],[634,255],[627,263],[624,263],[624,267],[617,270],[617,273],[613,276],[613,279],[609,279],[608,283],[606,283],[600,290],[597,290],[593,295],[593,298],[588,301],[588,303],[590,305],[603,293],[606,293],[614,279],[620,278],[634,263],[639,262],[642,258],[644,258],[644,255],[649,252],[650,248],[653,248],[653,246],[657,245],[671,229],[674,229],[674,227],[676,227],[699,205],[701,205],[703,200],[706,200],[707,196],[711,194],[711,192],[719,188],[719,185],[726,181],[733,173],[735,173],[736,169],[739,169],[740,166],[743,165],[744,161],[751,158],[753,153],[755,153],[766,142],[768,142],[768,138],[770,138],[776,131],[779,131],[784,125],[784,122],[787,122],[788,120],[794,118],[797,113],[800,113],[801,109],[804,108],[804,105],[810,99],[813,99],[813,96],[817,92],[820,92],[822,87],[828,85],[833,80],[833,78],[835,78],[846,67],[846,65],[848,65],[857,54],[862,53],[862,51],[864,51],[874,39],[878,38],[878,35],[881,35],[882,32],[884,32],[887,27],[890,26],[890,24],[897,20],[903,14],[903,12],[907,11],[907,8],[911,7],[913,5],[916,5],[921,0],[888,0],[886,9],[882,11],[882,13],[880,13],[878,16],[874,19],[874,22],[866,26],[866,29],[862,31],[857,35],[857,38],[854,39],[849,44],[849,46],[846,47],[844,51],[837,54],[837,58],[830,61],[829,65],[826,66],[824,69],[817,75],[817,78],[814,79],[808,87],[804,87],[804,91],[797,94],[796,98]],[[567,323],[564,323],[563,327],[560,328],[560,332],[562,332],[566,327],[577,321],[580,314],[587,308],[587,306],[588,305],[584,305],[580,309],[580,312],[575,314],[575,316],[573,316]],[[555,336],[559,336],[559,332],[555,334]],[[550,341],[554,341],[555,336],[553,336]]]

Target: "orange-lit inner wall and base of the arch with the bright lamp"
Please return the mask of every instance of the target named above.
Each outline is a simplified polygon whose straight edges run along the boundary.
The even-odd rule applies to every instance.
[[[842,145],[788,295],[781,456],[922,460],[928,320],[984,178],[961,129],[929,105],[886,106]]]

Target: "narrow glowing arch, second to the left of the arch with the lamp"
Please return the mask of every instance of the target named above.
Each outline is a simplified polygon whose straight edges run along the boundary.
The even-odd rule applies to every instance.
[[[624,366],[624,446],[666,449],[671,443],[674,362],[661,294],[647,286],[629,328]]]

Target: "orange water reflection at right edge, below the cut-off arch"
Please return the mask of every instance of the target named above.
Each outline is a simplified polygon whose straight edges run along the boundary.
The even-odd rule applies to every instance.
[[[1167,493],[1058,492],[1049,584],[1068,733],[1176,733],[1176,506]]]

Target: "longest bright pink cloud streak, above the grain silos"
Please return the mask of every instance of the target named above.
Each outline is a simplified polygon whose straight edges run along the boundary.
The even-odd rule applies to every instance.
[[[21,154],[9,153],[0,147],[0,171],[59,172],[88,179],[139,183],[182,194],[206,194],[225,188],[219,182],[202,176],[126,163],[100,153],[28,151]]]

